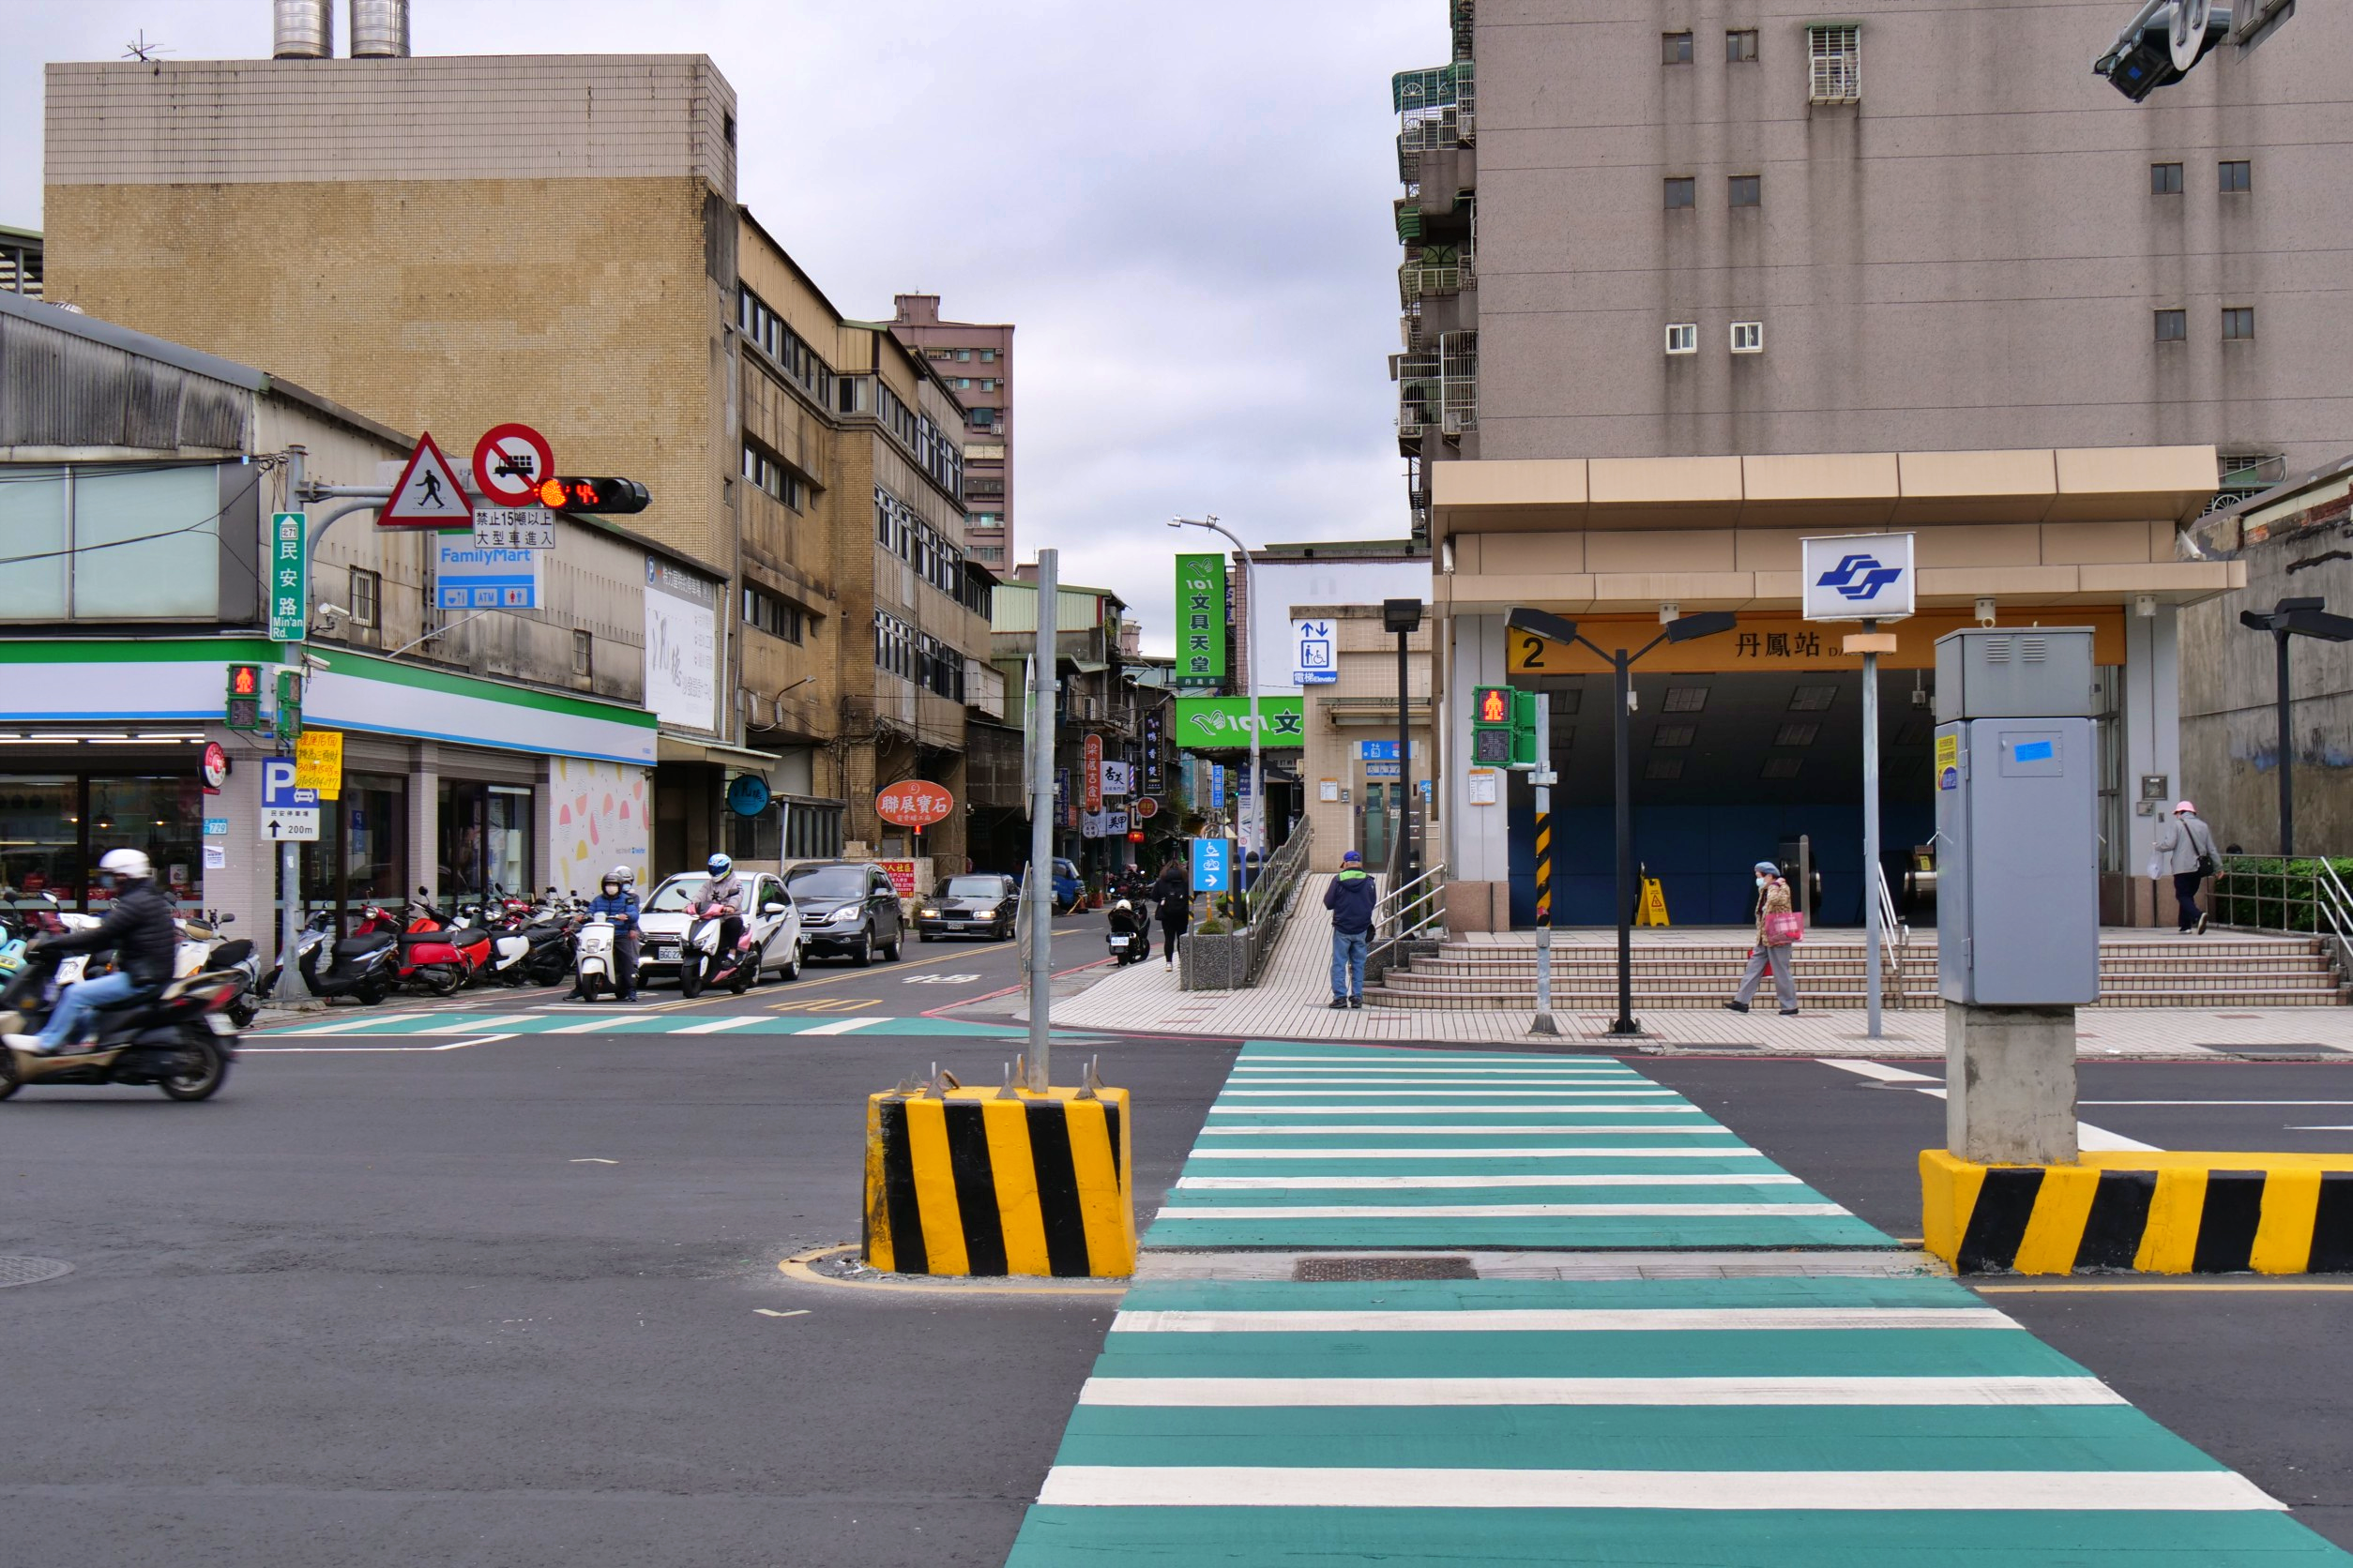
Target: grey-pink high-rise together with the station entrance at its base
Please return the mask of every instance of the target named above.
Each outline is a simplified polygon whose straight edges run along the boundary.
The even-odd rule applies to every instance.
[[[2353,169],[2311,143],[2353,16],[2308,7],[2132,106],[2089,73],[2125,12],[1452,0],[1449,59],[1391,82],[1398,437],[1438,559],[1442,748],[1468,745],[1471,682],[1560,686],[1555,802],[1567,839],[1605,832],[1609,726],[1569,717],[1600,677],[1513,663],[1504,614],[1631,642],[1739,611],[1753,639],[1638,679],[1645,715],[1668,689],[1706,715],[1635,726],[1640,849],[1678,912],[1734,900],[1708,870],[1727,835],[1859,839],[1859,661],[1809,651],[1798,538],[1906,529],[1913,625],[2099,630],[2108,917],[2148,914],[2139,795],[2195,783],[2179,611],[2245,576],[2179,534],[2353,447],[2332,306]],[[1889,856],[1929,837],[1929,663],[1925,642],[1882,661]],[[1497,799],[1440,804],[1449,858],[1525,919],[1527,804]],[[1828,877],[1826,917],[1859,917],[1871,867]],[[1607,884],[1602,863],[1555,879],[1565,914],[1600,919]]]

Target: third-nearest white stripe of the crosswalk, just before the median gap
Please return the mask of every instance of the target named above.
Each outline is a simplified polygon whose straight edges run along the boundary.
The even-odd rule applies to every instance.
[[[1111,1333],[1671,1333],[1689,1328],[2002,1328],[1993,1307],[1435,1307],[1431,1312],[1200,1312],[1136,1309]]]

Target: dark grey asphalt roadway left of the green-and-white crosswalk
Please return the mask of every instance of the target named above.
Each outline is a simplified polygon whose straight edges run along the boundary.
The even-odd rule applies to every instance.
[[[1066,931],[1061,964],[1101,954],[1099,917]],[[687,1011],[904,1018],[1012,983],[1007,945],[908,943]],[[0,1291],[0,1559],[1002,1561],[1113,1300],[776,1262],[856,1239],[866,1093],[934,1060],[988,1079],[1016,1041],[247,1044],[304,1048],[252,1051],[207,1105],[0,1107],[0,1253],[75,1265]],[[1148,1211],[1233,1051],[1096,1048],[1136,1095]]]

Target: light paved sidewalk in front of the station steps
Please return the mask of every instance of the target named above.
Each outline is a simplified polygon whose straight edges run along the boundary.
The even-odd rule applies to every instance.
[[[1184,992],[1158,959],[1106,969],[1071,999],[1054,1001],[1054,1023],[1073,1030],[1136,1030],[1148,1034],[1212,1034],[1226,1039],[1327,1039],[1365,1044],[1497,1044],[1541,1051],[1529,1037],[1532,1011],[1332,1011],[1332,929],[1311,879],[1275,943],[1259,985],[1238,992]],[[1562,933],[1565,938],[1569,933]],[[1668,940],[1668,933],[1638,933]],[[1689,940],[1685,931],[1675,940]],[[1746,940],[1732,933],[1727,940]],[[1574,933],[1591,945],[1595,933]],[[1614,943],[1609,933],[1609,943]],[[1800,1006],[1802,1006],[1800,997]],[[1753,1013],[1635,1009],[1645,1037],[1609,1034],[1612,1013],[1555,1013],[1569,1048],[1755,1051],[1760,1056],[1944,1056],[1944,1009],[1911,1006],[1882,1013],[1885,1039],[1868,1039],[1861,1011],[1821,1011],[1781,1018],[1769,1006]],[[2078,1051],[2101,1056],[2198,1058],[2242,1046],[2278,1053],[2301,1046],[2311,1056],[2353,1053],[2353,1009],[2085,1009]]]

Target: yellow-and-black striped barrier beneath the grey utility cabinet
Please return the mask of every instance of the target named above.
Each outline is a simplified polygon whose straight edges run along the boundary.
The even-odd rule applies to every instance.
[[[1922,1150],[1920,1220],[1927,1251],[1960,1274],[2348,1274],[2353,1154],[1981,1166]]]

